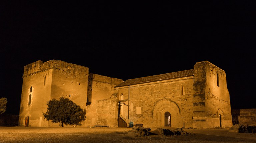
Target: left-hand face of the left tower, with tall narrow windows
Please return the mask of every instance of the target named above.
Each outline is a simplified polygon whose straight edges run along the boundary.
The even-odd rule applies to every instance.
[[[19,126],[25,125],[27,116],[30,117],[31,126],[48,126],[48,122],[42,117],[42,112],[45,112],[46,102],[50,100],[52,69],[45,64],[41,66],[41,64],[42,61],[37,61],[24,67]],[[31,95],[30,105],[29,95]]]

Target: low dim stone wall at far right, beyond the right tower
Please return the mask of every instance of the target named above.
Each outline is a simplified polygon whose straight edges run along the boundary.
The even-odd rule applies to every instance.
[[[231,114],[233,125],[256,126],[256,109],[232,109]]]

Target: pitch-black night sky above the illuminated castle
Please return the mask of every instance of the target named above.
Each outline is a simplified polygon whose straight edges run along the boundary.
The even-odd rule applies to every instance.
[[[62,60],[123,80],[193,69],[227,74],[231,108],[256,108],[256,2],[0,2],[0,97],[19,114],[25,65]]]

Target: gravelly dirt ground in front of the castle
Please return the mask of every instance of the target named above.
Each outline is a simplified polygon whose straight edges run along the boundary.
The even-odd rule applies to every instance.
[[[151,131],[156,128],[151,128]],[[168,129],[168,128],[167,128]],[[171,128],[169,128],[171,129]],[[191,135],[131,137],[131,128],[0,127],[0,143],[255,143],[256,134],[228,129],[185,129]]]

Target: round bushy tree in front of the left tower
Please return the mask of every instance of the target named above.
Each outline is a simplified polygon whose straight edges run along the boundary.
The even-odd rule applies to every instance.
[[[85,110],[69,100],[68,98],[60,97],[60,100],[52,99],[47,102],[48,107],[46,113],[43,113],[44,118],[53,123],[60,122],[63,125],[81,125],[85,120]]]

